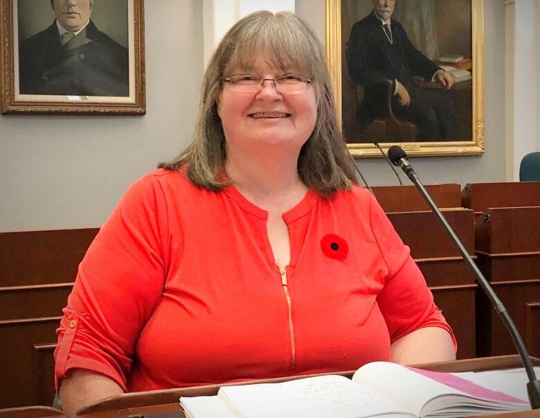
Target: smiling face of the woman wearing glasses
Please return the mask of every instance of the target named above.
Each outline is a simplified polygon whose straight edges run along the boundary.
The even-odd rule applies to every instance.
[[[241,73],[244,70],[233,71]],[[263,149],[260,147],[266,144],[271,148],[264,151],[264,156],[273,159],[275,157],[271,156],[271,153],[280,153],[283,156],[280,162],[289,169],[294,168],[296,173],[300,148],[312,134],[316,122],[314,88],[300,80],[307,80],[303,76],[292,78],[298,82],[291,82],[287,78],[285,80],[289,80],[288,84],[276,82],[277,77],[285,81],[282,79],[283,70],[271,67],[262,56],[255,60],[251,71],[258,76],[250,78],[260,78],[260,83],[250,85],[251,89],[246,90],[246,85],[233,84],[233,76],[233,80],[229,78],[230,81],[224,84],[219,95],[217,113],[222,119],[228,162],[249,161],[256,157],[251,155],[252,152],[260,153]],[[240,82],[242,79],[245,82],[246,77],[240,78]],[[258,141],[260,145],[252,146],[253,141]],[[285,153],[285,150],[288,152]],[[286,162],[285,156],[292,159],[294,164]],[[260,158],[261,156],[258,157]],[[282,169],[274,162],[269,166]],[[231,167],[226,167],[226,171],[230,173]]]

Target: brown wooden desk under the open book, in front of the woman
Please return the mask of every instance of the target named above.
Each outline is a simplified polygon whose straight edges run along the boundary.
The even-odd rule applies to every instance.
[[[540,360],[532,359],[535,366],[540,365]],[[456,360],[444,363],[431,363],[417,365],[426,370],[440,372],[478,372],[490,369],[512,369],[522,367],[519,356],[499,356],[490,358],[470,358],[466,360]],[[352,377],[354,371],[341,373],[343,376]],[[318,376],[318,375],[309,375]],[[289,378],[264,379],[260,381],[251,381],[244,383],[235,383],[235,385],[246,383],[271,383],[288,381],[292,378],[304,378],[307,376],[293,376]],[[132,394],[123,394],[117,397],[111,397],[82,408],[78,411],[78,417],[84,418],[121,418],[128,415],[143,415],[145,418],[185,418],[180,406],[180,397],[195,397],[204,395],[215,395],[220,385],[208,385],[200,387],[186,387],[184,389],[154,390],[151,392],[138,392]],[[492,417],[495,417],[492,415]],[[501,414],[496,417],[502,418],[532,418],[540,417],[540,410],[514,412],[512,414]],[[1,417],[0,415],[0,418]]]

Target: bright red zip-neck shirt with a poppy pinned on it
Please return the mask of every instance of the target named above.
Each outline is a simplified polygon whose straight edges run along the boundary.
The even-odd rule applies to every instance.
[[[82,368],[140,391],[332,372],[388,360],[424,326],[451,333],[368,191],[308,191],[283,218],[280,272],[267,212],[233,187],[164,170],[135,182],[80,264],[57,380]]]

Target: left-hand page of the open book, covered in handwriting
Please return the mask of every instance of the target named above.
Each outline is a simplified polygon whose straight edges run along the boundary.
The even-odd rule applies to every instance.
[[[284,383],[226,386],[218,397],[245,418],[361,418],[402,412],[393,401],[343,376],[317,376]],[[198,418],[198,417],[197,417]]]

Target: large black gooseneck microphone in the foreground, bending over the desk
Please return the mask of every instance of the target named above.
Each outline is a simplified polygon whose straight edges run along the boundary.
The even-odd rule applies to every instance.
[[[523,361],[523,367],[525,367],[525,372],[527,373],[527,376],[529,378],[529,383],[527,383],[527,393],[531,409],[540,409],[540,381],[537,380],[537,376],[534,373],[534,368],[532,367],[532,362],[530,360],[527,348],[523,343],[523,339],[521,338],[521,335],[519,335],[519,331],[517,330],[514,321],[512,321],[512,318],[508,314],[505,306],[503,305],[503,302],[501,302],[501,299],[497,297],[492,286],[485,279],[482,272],[480,272],[480,269],[478,269],[474,261],[471,259],[471,256],[469,256],[469,252],[467,252],[467,250],[465,249],[465,246],[460,241],[460,238],[458,238],[456,233],[453,232],[453,229],[450,227],[447,220],[444,218],[444,216],[442,216],[441,211],[439,210],[435,202],[433,202],[433,199],[418,179],[418,176],[415,173],[411,164],[409,164],[405,151],[402,150],[402,148],[400,148],[399,146],[391,146],[390,149],[388,149],[388,157],[395,166],[401,167],[402,170],[406,173],[407,177],[411,179],[411,182],[415,184],[424,200],[426,200],[426,203],[429,205],[429,207],[431,207],[431,211],[433,211],[433,214],[435,214],[444,229],[446,229],[446,231],[448,232],[453,243],[456,245],[456,247],[458,247],[459,252],[461,253],[463,259],[465,260],[469,268],[473,270],[474,274],[476,275],[476,281],[478,281],[478,285],[487,295],[487,298],[489,299],[489,302],[491,302],[496,313],[498,313],[499,317],[501,317],[501,320],[503,320],[508,333],[510,333],[510,336],[512,337],[512,341],[514,342],[514,345],[519,352],[521,361]]]

